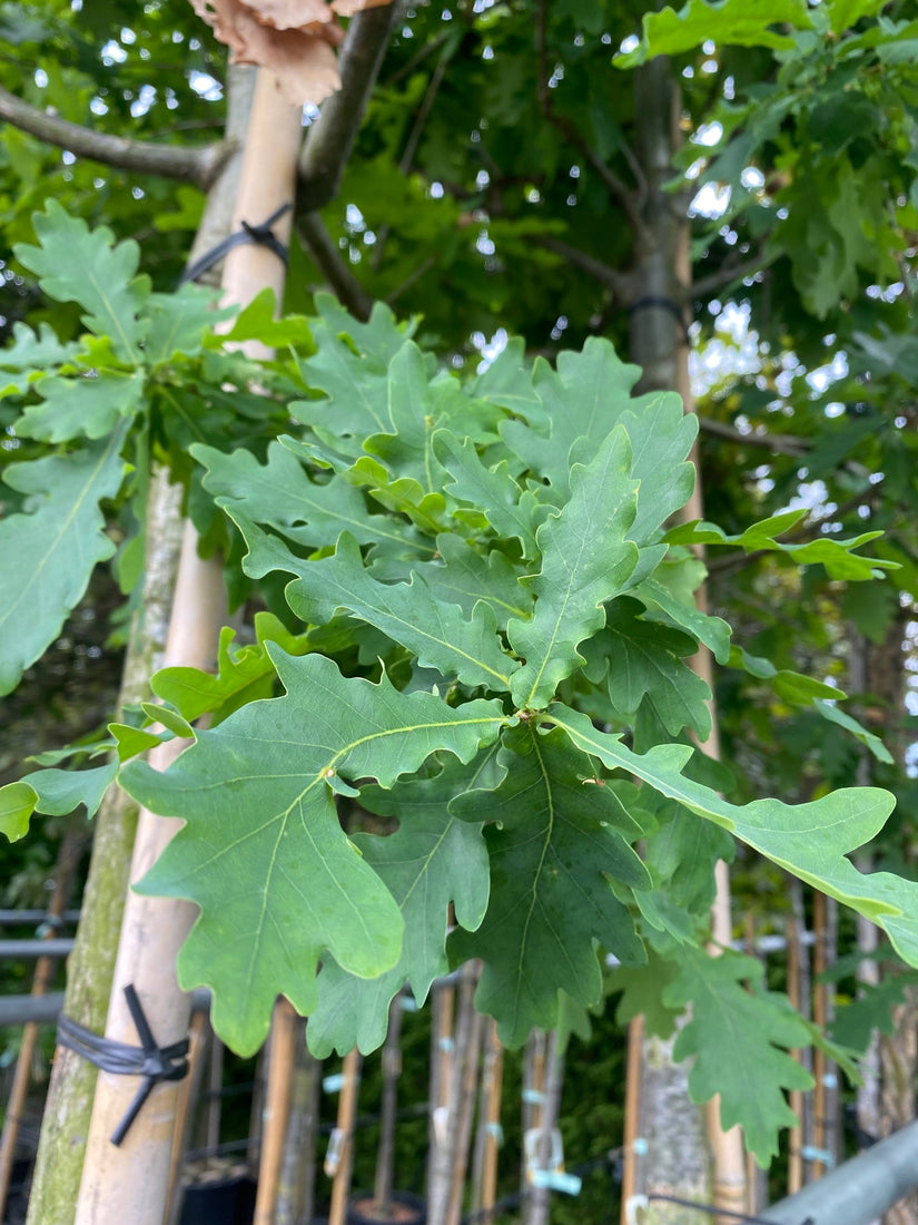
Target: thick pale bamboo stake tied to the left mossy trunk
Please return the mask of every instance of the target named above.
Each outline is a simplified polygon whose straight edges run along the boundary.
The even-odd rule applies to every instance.
[[[296,154],[301,135],[299,108],[285,103],[273,80],[261,72],[256,85],[244,156],[236,223],[262,222],[293,198]],[[288,227],[278,236],[289,238]],[[226,257],[224,289],[230,301],[246,303],[271,287],[280,299],[284,266],[261,246],[239,246]],[[246,345],[250,355],[264,352],[257,342]],[[179,564],[173,620],[169,626],[166,663],[212,666],[219,627],[225,616],[225,593],[219,559],[198,556],[197,534],[186,524]],[[157,746],[151,763],[164,769],[177,756],[181,741]],[[136,882],[153,866],[180,822],[141,812],[131,865]],[[137,1035],[124,998],[133,984],[160,1046],[187,1034],[190,997],[181,991],[175,963],[195,920],[190,903],[129,894],[121,929],[105,1036],[136,1045]],[[164,1082],[153,1089],[141,1116],[120,1148],[110,1136],[131,1105],[137,1090],[133,1077],[100,1072],[87,1143],[87,1160],[77,1204],[77,1225],[106,1225],[111,1220],[131,1225],[160,1225],[171,1160],[177,1084]]]

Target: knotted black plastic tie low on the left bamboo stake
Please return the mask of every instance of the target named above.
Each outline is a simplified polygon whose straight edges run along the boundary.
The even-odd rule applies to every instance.
[[[121,1144],[127,1136],[131,1123],[155,1085],[160,1080],[182,1080],[188,1072],[188,1039],[182,1038],[169,1046],[158,1046],[132,982],[125,987],[125,1000],[141,1040],[140,1046],[129,1046],[127,1042],[99,1038],[98,1034],[71,1020],[70,1017],[60,1017],[58,1020],[58,1042],[61,1046],[76,1051],[77,1055],[87,1062],[94,1063],[103,1072],[111,1072],[114,1076],[143,1077],[143,1083],[137,1089],[133,1101],[111,1133],[111,1143],[115,1145]]]

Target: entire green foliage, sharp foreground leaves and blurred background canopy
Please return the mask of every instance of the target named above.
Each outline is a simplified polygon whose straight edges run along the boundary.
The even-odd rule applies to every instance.
[[[165,462],[234,598],[259,609],[255,641],[224,632],[217,677],[155,681],[151,718],[191,736],[209,713],[211,729],[166,775],[122,774],[187,821],[147,887],[202,907],[182,974],[215,987],[228,1039],[257,1045],[285,990],[312,1009],[317,1050],[368,1049],[405,979],[422,997],[481,957],[480,1003],[519,1041],[554,1023],[558,992],[565,1009],[592,1005],[612,953],[634,963],[606,979],[623,1014],[666,1029],[693,1001],[679,1040],[693,1093],[720,1091],[764,1158],[787,1121],[781,1087],[800,1083],[786,1051],[813,1034],[749,962],[695,954],[730,835],[916,959],[914,887],[846,859],[891,804],[848,790],[864,761],[914,794],[879,740],[901,750],[908,725],[886,695],[836,703],[852,627],[901,643],[918,594],[918,31],[907,4],[879,0],[647,7],[412,9],[323,217],[364,289],[415,321],[377,306],[357,322],[317,296],[295,243],[288,306],[308,320],[274,323],[262,300],[231,333],[277,344],[268,366],[223,348],[207,294],[163,292],[195,189],[0,129],[5,239],[23,244],[2,252],[6,326],[29,325],[0,353],[0,691],[55,641],[97,562],[136,592],[151,464]],[[200,141],[220,115],[208,32],[168,4],[114,12],[121,31],[59,0],[0,5],[4,37],[37,66],[23,88],[18,60],[0,59],[0,83],[78,123]],[[714,338],[727,371],[700,404],[720,527],[668,533],[694,426],[672,397],[635,396],[616,356],[647,241],[635,71],[657,53],[682,85],[671,200],[692,217],[693,336]],[[49,194],[70,217],[39,214],[34,245]],[[77,217],[133,235],[142,257]],[[737,375],[725,327],[739,317],[754,360]],[[525,347],[472,372],[498,328]],[[709,551],[707,616],[693,543]],[[710,728],[684,663],[698,642],[723,665],[733,771],[692,748]],[[122,761],[153,742],[142,722],[113,729]],[[66,757],[26,767],[0,791],[2,828],[93,807],[118,764],[87,753],[110,744],[72,755],[76,774]],[[908,811],[875,844],[903,876]],[[783,877],[750,864],[741,895],[771,918]]]

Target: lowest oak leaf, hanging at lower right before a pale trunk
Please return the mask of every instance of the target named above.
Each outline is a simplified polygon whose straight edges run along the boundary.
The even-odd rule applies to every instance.
[[[791,1050],[808,1046],[809,1028],[785,996],[766,991],[764,967],[753,957],[699,948],[679,954],[679,970],[663,990],[670,1007],[692,1005],[673,1047],[692,1058],[688,1087],[693,1101],[720,1094],[721,1126],[739,1123],[763,1169],[777,1155],[777,1136],[797,1116],[782,1089],[810,1089],[813,1077]]]

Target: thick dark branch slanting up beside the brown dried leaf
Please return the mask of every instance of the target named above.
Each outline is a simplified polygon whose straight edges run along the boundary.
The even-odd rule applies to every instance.
[[[341,88],[322,105],[300,151],[297,212],[313,213],[338,195],[392,31],[401,16],[399,0],[351,17],[341,47]]]

